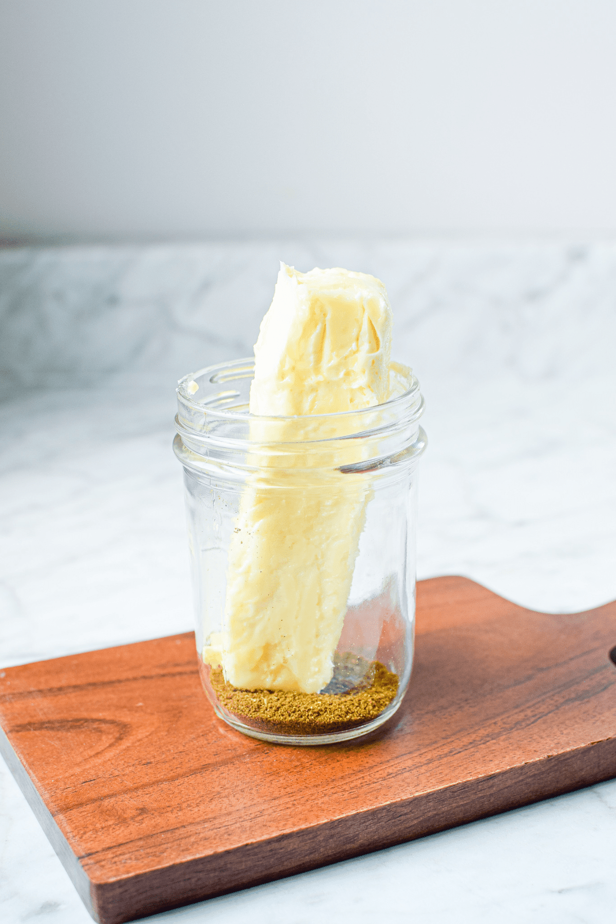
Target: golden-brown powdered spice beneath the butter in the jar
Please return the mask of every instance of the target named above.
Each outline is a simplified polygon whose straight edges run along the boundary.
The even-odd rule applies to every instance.
[[[223,710],[252,728],[279,735],[327,735],[376,719],[398,690],[398,676],[384,664],[343,657],[355,668],[358,662],[365,664],[363,680],[350,689],[344,688],[344,681],[332,681],[326,690],[333,688],[333,693],[237,689],[224,680],[220,667],[211,670],[210,683]]]

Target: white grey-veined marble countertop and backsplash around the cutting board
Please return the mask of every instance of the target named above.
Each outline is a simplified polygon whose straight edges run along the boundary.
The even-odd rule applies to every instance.
[[[395,358],[427,400],[417,576],[550,612],[616,598],[614,244],[8,249],[0,663],[191,627],[175,382],[251,354],[280,259],[388,286]],[[89,921],[2,761],[0,793],[4,924]],[[612,781],[157,918],[604,922],[615,821]]]

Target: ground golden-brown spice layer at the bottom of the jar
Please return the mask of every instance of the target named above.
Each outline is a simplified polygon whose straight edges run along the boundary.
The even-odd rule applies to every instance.
[[[383,713],[398,692],[398,675],[379,661],[368,662],[351,653],[337,655],[332,681],[320,693],[288,690],[243,690],[223,677],[220,667],[200,662],[201,679],[214,707],[242,731],[267,740],[301,736],[306,743],[341,732],[366,734],[388,716]],[[354,734],[350,736],[355,737]]]

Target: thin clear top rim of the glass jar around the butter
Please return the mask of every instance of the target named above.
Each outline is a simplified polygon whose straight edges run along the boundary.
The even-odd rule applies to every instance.
[[[370,419],[370,416],[374,416],[375,411],[391,411],[393,417],[398,417],[401,414],[405,413],[405,408],[408,406],[408,410],[413,410],[414,413],[411,414],[410,419],[406,417],[407,422],[413,422],[416,419],[421,417],[424,410],[424,399],[421,395],[419,388],[419,380],[413,371],[404,366],[402,363],[393,362],[392,368],[399,375],[406,374],[408,378],[408,386],[405,388],[405,391],[398,395],[393,395],[383,401],[380,405],[371,405],[369,407],[359,407],[351,408],[344,411],[335,411],[329,414],[294,414],[289,416],[284,415],[265,415],[265,414],[251,414],[246,410],[237,410],[233,407],[215,407],[215,402],[219,400],[218,398],[212,398],[211,400],[207,399],[205,401],[196,400],[193,395],[195,391],[189,391],[188,386],[196,383],[196,379],[202,378],[203,376],[208,376],[209,382],[212,384],[215,383],[225,383],[233,382],[240,378],[252,378],[255,368],[254,357],[246,357],[243,359],[230,359],[225,362],[214,363],[211,366],[205,366],[203,369],[200,369],[196,372],[189,372],[187,375],[184,375],[181,379],[178,380],[177,388],[175,389],[178,400],[181,399],[182,403],[190,407],[193,411],[207,412],[208,415],[221,421],[242,421],[246,422],[247,420],[252,420],[255,422],[262,421],[266,422],[278,422],[283,421],[308,421],[308,420],[328,420],[335,421],[336,419],[348,419],[349,417],[354,417],[358,423],[364,420]],[[233,374],[236,373],[236,374]],[[199,386],[198,386],[199,387]],[[361,430],[361,426],[359,430]],[[369,429],[369,428],[368,428]]]

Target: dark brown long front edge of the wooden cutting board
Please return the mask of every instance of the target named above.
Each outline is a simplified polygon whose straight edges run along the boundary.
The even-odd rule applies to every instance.
[[[195,857],[124,880],[92,882],[96,919],[101,924],[125,924],[405,844],[613,777],[616,737],[213,857]],[[221,889],[224,880],[231,884]]]

